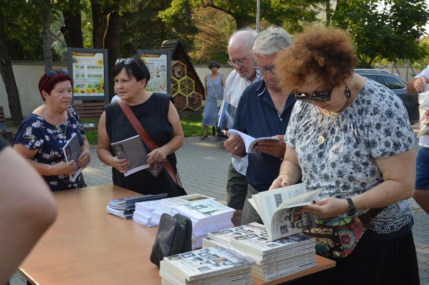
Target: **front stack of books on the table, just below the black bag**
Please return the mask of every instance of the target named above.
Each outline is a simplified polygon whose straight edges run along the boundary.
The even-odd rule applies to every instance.
[[[162,284],[253,284],[248,256],[215,246],[164,257],[160,262]]]

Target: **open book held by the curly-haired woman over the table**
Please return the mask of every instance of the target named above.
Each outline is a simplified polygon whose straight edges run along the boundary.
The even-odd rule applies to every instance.
[[[314,216],[297,210],[316,200],[320,192],[307,192],[305,184],[300,183],[260,192],[252,195],[249,202],[264,222],[268,240],[273,241],[315,228]]]

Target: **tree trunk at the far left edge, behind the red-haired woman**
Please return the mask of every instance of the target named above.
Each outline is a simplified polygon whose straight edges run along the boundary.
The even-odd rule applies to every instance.
[[[14,70],[12,69],[11,57],[6,45],[5,27],[3,25],[4,17],[0,9],[0,75],[5,84],[6,93],[8,94],[9,110],[11,112],[12,121],[18,125],[22,121],[21,100],[17,83],[15,81]]]

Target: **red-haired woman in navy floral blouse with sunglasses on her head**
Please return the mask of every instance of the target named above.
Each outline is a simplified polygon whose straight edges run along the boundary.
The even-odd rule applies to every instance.
[[[66,69],[46,72],[39,81],[44,104],[24,118],[14,142],[14,149],[29,160],[52,191],[79,188],[80,176],[73,182],[69,175],[90,163],[85,130],[76,110],[70,106],[72,85],[73,79]],[[66,163],[62,151],[74,134],[83,150],[78,165],[73,160]]]

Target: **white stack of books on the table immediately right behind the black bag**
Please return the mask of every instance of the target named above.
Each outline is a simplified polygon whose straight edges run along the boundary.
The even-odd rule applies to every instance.
[[[232,228],[231,218],[235,209],[212,199],[197,200],[173,209],[173,214],[181,213],[192,221],[192,249],[202,246],[202,239],[212,231]],[[174,215],[172,215],[174,216]]]

